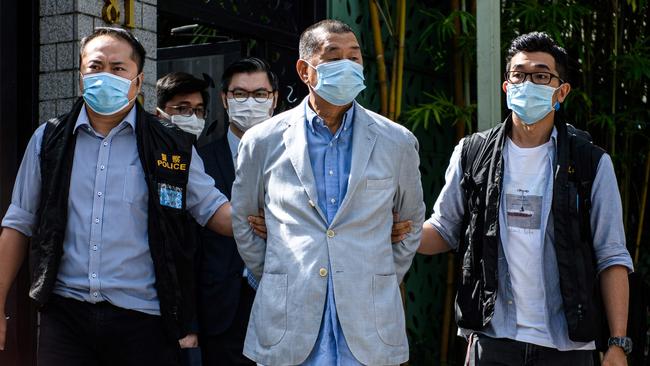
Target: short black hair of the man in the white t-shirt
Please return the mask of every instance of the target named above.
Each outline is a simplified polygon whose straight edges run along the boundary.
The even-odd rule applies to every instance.
[[[553,56],[555,68],[560,74],[560,79],[567,80],[569,69],[569,56],[566,50],[555,43],[553,38],[544,32],[530,32],[522,34],[512,40],[506,57],[506,72],[510,71],[510,61],[519,52],[545,52]]]

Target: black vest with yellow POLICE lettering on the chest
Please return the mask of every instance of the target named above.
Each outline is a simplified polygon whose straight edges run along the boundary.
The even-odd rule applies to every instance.
[[[30,296],[47,302],[54,288],[63,254],[68,193],[77,135],[74,125],[83,106],[75,103],[66,115],[48,121],[41,147],[41,202],[31,245],[34,261]],[[194,315],[194,254],[192,218],[185,210],[193,135],[160,121],[136,103],[138,154],[149,189],[149,250],[156,275],[155,288],[168,335],[183,337]],[[172,158],[173,157],[173,158]],[[176,161],[173,161],[176,160]],[[161,204],[161,189],[182,194],[180,208]]]

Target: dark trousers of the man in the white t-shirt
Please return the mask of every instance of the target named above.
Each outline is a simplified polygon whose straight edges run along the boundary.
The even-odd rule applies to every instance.
[[[473,334],[467,349],[469,366],[593,366],[593,351],[555,348]]]

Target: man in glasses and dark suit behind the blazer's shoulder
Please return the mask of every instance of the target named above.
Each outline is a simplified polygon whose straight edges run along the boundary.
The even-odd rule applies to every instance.
[[[198,152],[206,173],[230,199],[239,140],[273,114],[278,78],[262,59],[238,60],[224,70],[221,101],[228,113],[227,132]],[[258,221],[264,224],[263,219]],[[198,314],[203,365],[254,365],[242,351],[257,281],[244,266],[232,237],[203,230],[201,240]]]

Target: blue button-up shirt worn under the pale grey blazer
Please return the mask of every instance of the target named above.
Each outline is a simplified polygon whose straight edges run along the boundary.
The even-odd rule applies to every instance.
[[[328,224],[334,219],[348,189],[355,105],[345,112],[341,126],[332,134],[323,120],[305,103],[309,160],[318,190],[318,206],[327,215]],[[361,365],[352,355],[336,315],[332,276],[327,280],[325,311],[318,338],[303,365]]]

